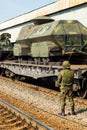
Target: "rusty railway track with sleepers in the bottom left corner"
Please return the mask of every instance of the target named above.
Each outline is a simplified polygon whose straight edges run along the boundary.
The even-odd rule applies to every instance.
[[[0,98],[0,130],[53,130]]]

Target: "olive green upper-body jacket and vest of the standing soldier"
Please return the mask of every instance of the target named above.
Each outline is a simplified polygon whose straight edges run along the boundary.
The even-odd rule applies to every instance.
[[[74,72],[71,69],[61,70],[58,76],[58,82],[61,83],[62,86],[71,86],[74,81]]]

